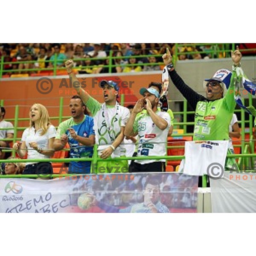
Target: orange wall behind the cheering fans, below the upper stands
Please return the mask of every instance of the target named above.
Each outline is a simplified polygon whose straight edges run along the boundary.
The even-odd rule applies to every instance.
[[[37,90],[36,84],[39,78],[35,80],[13,80],[0,81],[0,99],[4,100],[4,107],[6,108],[5,118],[14,118],[15,105],[19,105],[19,117],[28,117],[29,109],[34,103],[41,103],[45,105],[49,111],[50,116],[59,115],[59,99],[64,97],[63,115],[69,116],[69,99],[76,94],[76,91],[69,88],[69,79],[64,80],[49,77],[52,81],[52,91],[48,94],[41,94]],[[125,94],[125,105],[134,104],[140,97],[139,90],[141,87],[148,87],[151,81],[160,82],[160,74],[141,74],[130,76],[104,76],[104,77],[84,77],[79,78],[81,84],[86,86],[84,89],[90,93],[99,102],[103,102],[102,90],[99,88],[99,81],[113,80],[119,84],[120,93]],[[50,84],[43,84],[43,88],[50,88]],[[40,88],[40,83],[38,83]],[[53,121],[54,125],[58,125],[58,121]],[[28,126],[28,122],[20,121],[18,126]],[[20,133],[19,133],[20,135]]]

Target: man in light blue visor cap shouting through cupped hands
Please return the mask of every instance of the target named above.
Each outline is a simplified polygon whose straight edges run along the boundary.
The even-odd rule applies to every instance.
[[[148,89],[140,89],[143,98],[137,101],[125,126],[125,136],[138,134],[138,157],[166,155],[171,118],[168,113],[157,109],[160,90],[157,83]],[[144,109],[147,112],[141,113]],[[133,172],[164,172],[165,162],[166,160],[135,160]]]

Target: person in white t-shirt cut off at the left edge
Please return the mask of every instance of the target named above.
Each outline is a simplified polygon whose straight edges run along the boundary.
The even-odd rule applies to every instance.
[[[14,134],[12,123],[4,120],[5,114],[5,108],[0,106],[0,128],[11,128],[8,130],[0,130],[0,147],[9,148],[9,141],[1,141],[1,139],[12,139]],[[0,149],[0,159],[4,159],[5,156],[5,152]]]

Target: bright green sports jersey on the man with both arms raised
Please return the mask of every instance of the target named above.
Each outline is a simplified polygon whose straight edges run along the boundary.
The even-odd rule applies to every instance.
[[[236,107],[235,77],[233,72],[224,98],[197,103],[193,140],[229,140],[229,125]]]

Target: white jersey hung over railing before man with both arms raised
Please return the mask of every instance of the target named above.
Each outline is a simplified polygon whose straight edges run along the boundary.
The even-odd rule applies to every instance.
[[[227,140],[186,141],[184,174],[205,175],[210,165],[213,174],[220,172],[221,167],[225,168],[227,148]]]

